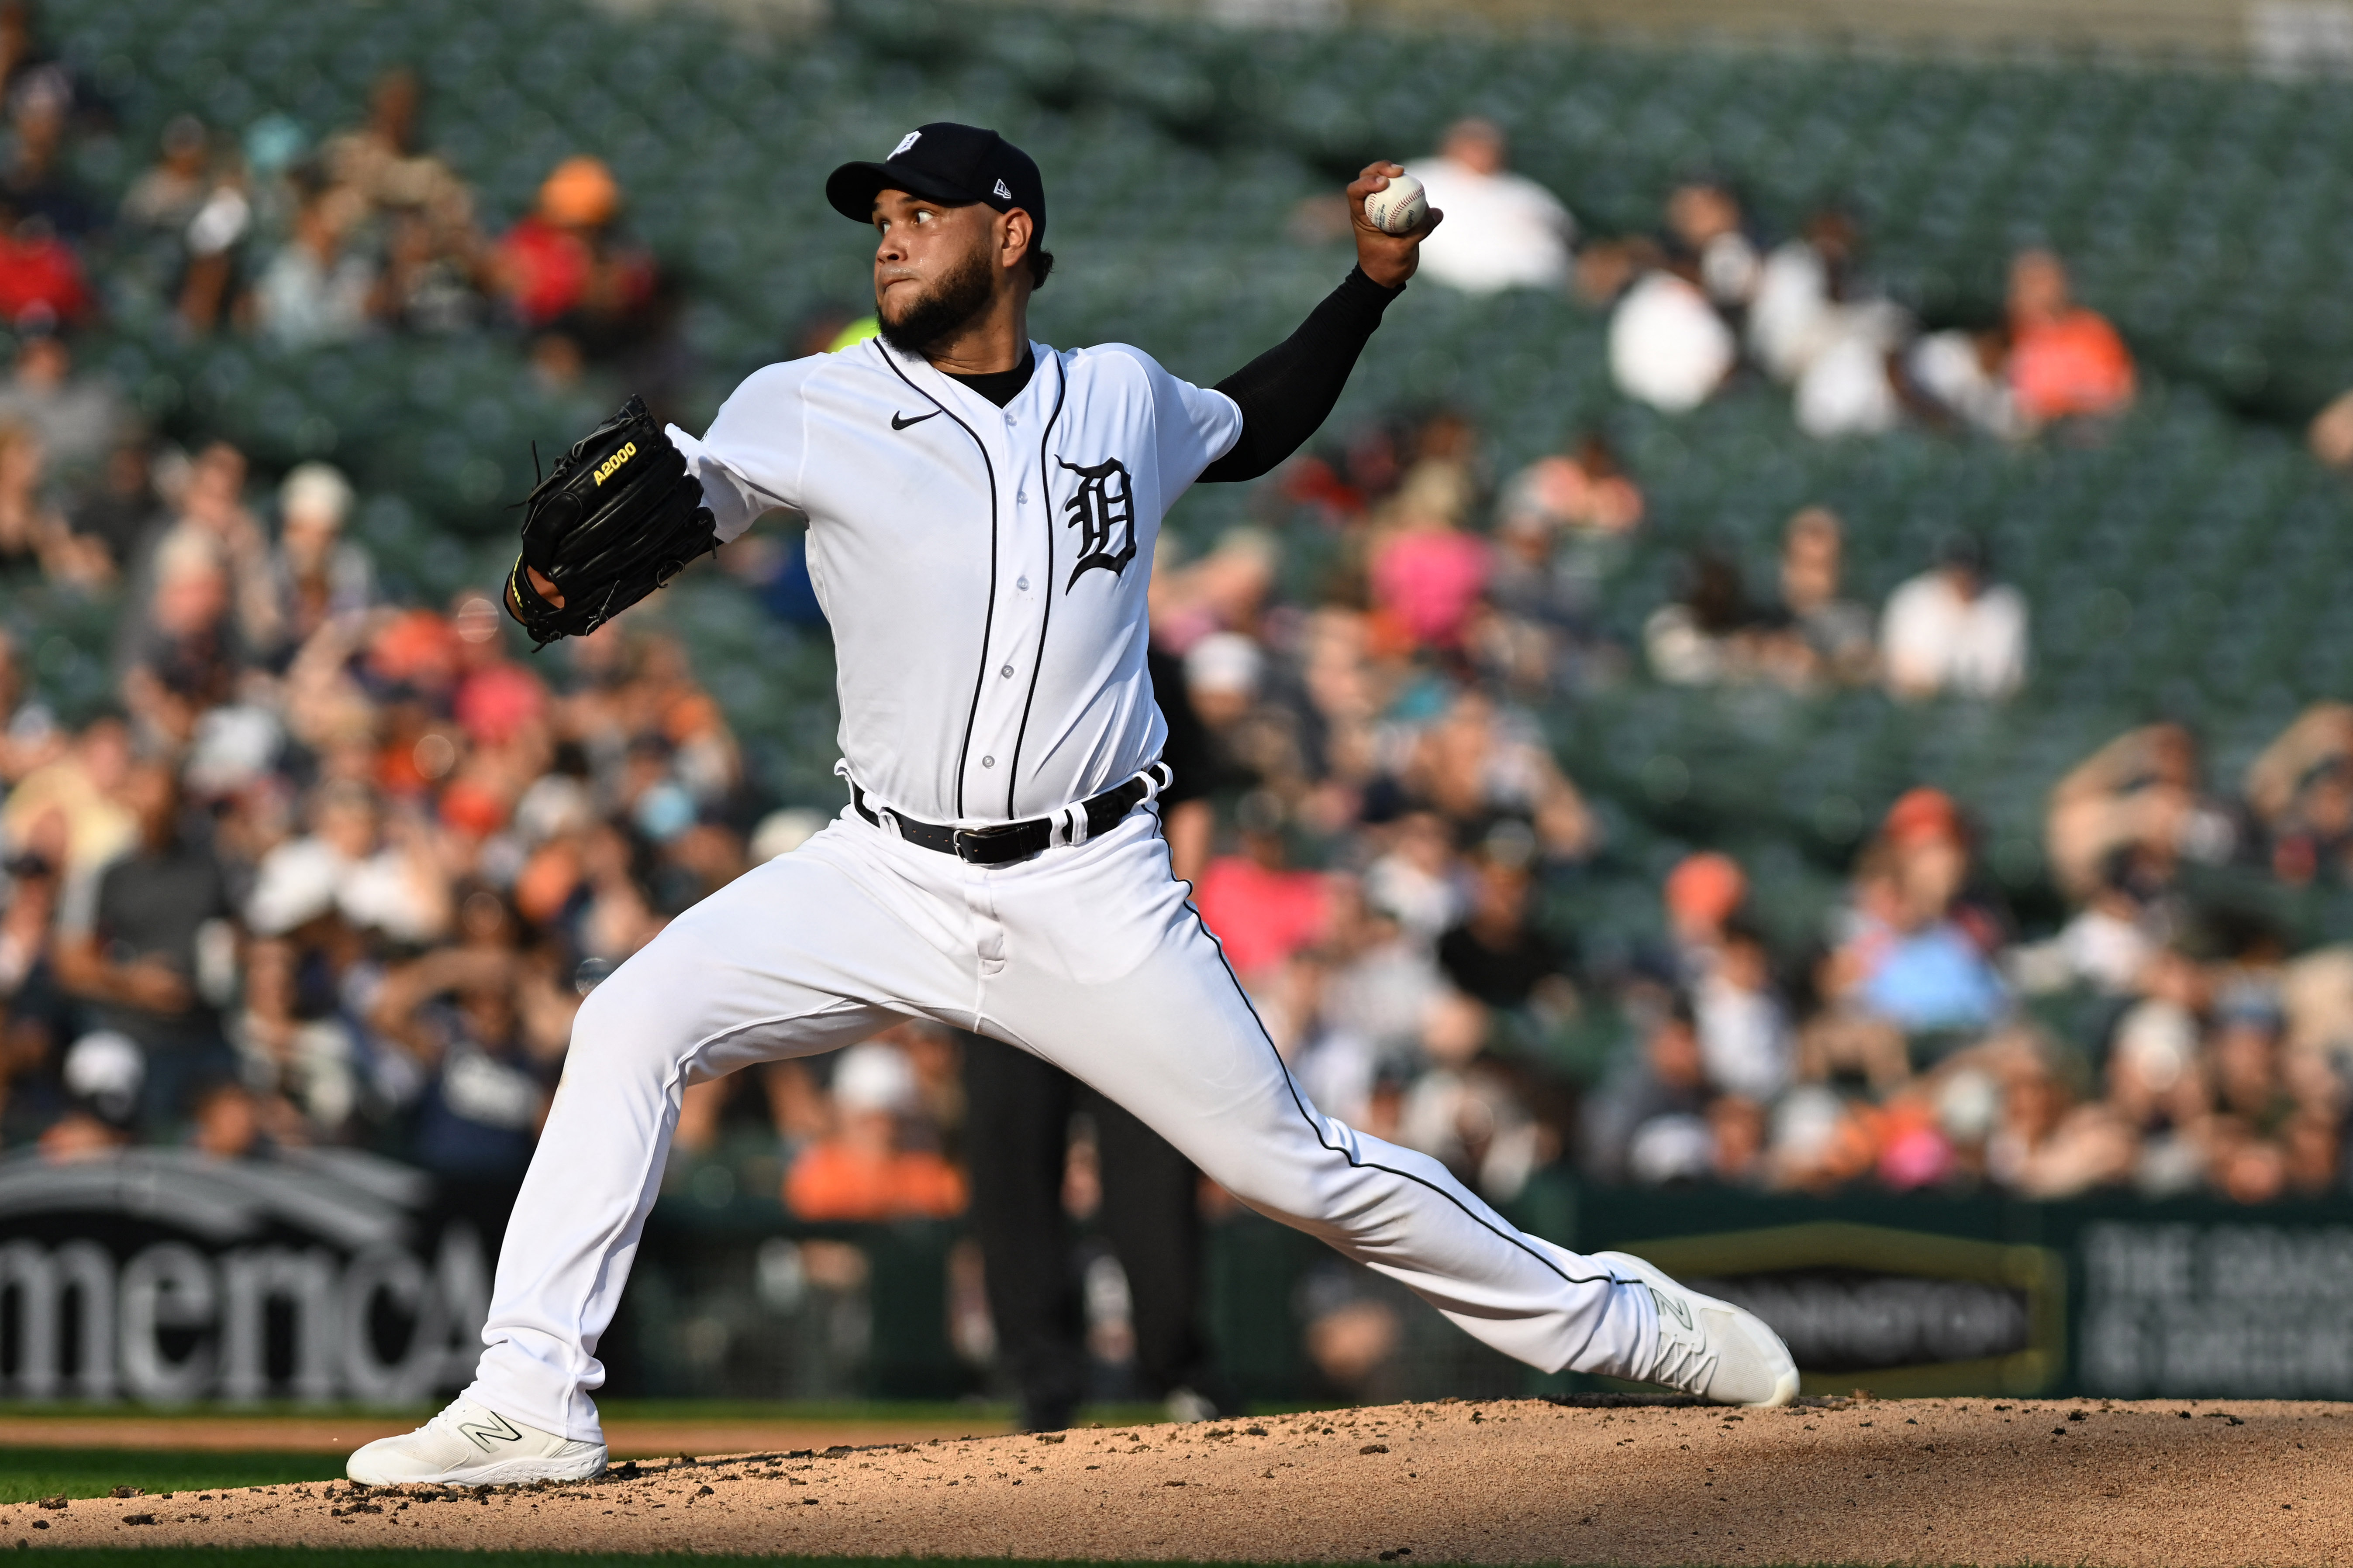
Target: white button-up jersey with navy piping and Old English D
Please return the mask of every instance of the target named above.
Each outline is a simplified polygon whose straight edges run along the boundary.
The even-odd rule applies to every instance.
[[[671,428],[722,541],[807,512],[849,776],[932,823],[1045,816],[1160,755],[1153,541],[1242,430],[1125,343],[1031,350],[1002,409],[873,339],[755,371],[701,440]]]

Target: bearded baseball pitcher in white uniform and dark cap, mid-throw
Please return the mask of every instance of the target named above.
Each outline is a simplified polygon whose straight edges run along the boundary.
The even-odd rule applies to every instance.
[[[1435,1159],[1320,1114],[1169,875],[1153,538],[1188,484],[1273,470],[1332,411],[1442,216],[1407,233],[1367,219],[1400,174],[1377,162],[1348,186],[1358,266],[1299,331],[1200,388],[1125,343],[1033,343],[1028,299],[1052,270],[1038,165],[995,132],[925,125],[826,181],[875,230],[878,341],[755,371],[701,437],[633,402],[534,491],[506,599],[544,642],[772,508],[805,512],[849,804],[591,992],[475,1382],[360,1448],[351,1479],[598,1474],[598,1335],[680,1091],[908,1016],[1064,1067],[1242,1204],[1529,1366],[1722,1403],[1795,1396],[1788,1352],[1748,1312],[1640,1258],[1522,1234]]]

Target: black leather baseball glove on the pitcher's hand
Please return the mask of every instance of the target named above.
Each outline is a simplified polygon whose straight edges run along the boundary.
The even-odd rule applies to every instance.
[[[541,646],[586,637],[718,545],[704,487],[633,395],[522,503],[506,614]],[[562,604],[532,588],[525,567],[555,583]]]

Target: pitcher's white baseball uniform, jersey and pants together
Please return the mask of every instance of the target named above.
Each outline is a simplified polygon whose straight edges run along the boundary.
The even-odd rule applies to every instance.
[[[1153,759],[1153,536],[1240,435],[1228,397],[1134,348],[1033,348],[1038,371],[1005,409],[864,343],[758,371],[704,440],[671,430],[725,538],[772,505],[809,515],[842,752],[878,802],[934,823],[1045,816]],[[1007,865],[845,809],[673,919],[572,1025],[468,1394],[602,1441],[595,1349],[687,1086],[899,1018],[1071,1072],[1242,1204],[1529,1366],[1647,1378],[1661,1345],[1685,1342],[1609,1260],[1520,1234],[1428,1154],[1318,1112],[1188,891],[1151,809]]]

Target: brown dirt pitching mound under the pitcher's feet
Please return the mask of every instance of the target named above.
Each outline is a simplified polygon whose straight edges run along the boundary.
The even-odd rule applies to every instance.
[[[2353,1406],[1431,1403],[0,1507],[0,1544],[1424,1563],[2353,1561]],[[54,1500],[52,1500],[54,1502]]]

